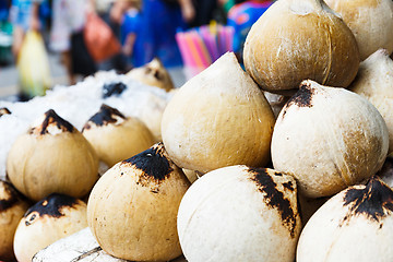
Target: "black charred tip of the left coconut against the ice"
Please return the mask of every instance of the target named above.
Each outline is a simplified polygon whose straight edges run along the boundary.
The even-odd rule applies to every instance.
[[[53,109],[49,109],[48,111],[45,112],[44,115],[44,121],[39,124],[36,126],[34,128],[31,129],[29,133],[34,133],[37,135],[44,135],[47,133],[51,133],[53,128],[57,128],[58,131],[60,132],[70,132],[72,133],[74,130],[74,127],[68,122],[67,120],[64,120],[63,118],[59,117]]]

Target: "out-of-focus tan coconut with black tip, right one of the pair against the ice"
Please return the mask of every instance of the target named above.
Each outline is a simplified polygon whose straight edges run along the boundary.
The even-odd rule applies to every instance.
[[[130,158],[154,144],[152,132],[134,117],[102,105],[84,126],[82,134],[93,145],[98,158],[108,167]]]

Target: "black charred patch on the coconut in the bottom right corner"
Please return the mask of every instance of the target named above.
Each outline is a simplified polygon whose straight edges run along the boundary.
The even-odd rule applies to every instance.
[[[345,192],[343,205],[349,206],[349,213],[340,226],[356,215],[380,223],[388,212],[393,212],[393,191],[374,176],[365,188],[348,189]]]

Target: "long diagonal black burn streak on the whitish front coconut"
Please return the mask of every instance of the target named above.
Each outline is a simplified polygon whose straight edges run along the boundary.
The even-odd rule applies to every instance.
[[[250,168],[249,171],[254,175],[251,180],[257,182],[258,190],[266,194],[266,204],[278,210],[284,226],[289,229],[290,236],[295,237],[296,214],[289,200],[284,198],[283,192],[277,189],[277,184],[265,168]]]

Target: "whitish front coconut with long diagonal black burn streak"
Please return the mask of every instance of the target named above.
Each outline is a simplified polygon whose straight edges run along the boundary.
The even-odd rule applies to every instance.
[[[178,213],[181,249],[193,262],[293,262],[300,229],[295,179],[243,165],[198,179]]]

